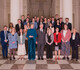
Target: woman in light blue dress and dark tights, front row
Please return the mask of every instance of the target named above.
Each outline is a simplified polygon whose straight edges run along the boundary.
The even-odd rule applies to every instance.
[[[9,49],[10,49],[10,60],[15,59],[15,51],[17,48],[17,39],[18,34],[15,31],[15,28],[12,28],[11,33],[8,34],[8,40],[9,40]]]

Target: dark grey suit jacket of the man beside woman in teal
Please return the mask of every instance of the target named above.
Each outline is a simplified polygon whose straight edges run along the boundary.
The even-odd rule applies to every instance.
[[[45,30],[43,29],[43,32],[40,31],[40,29],[37,30],[37,42],[39,44],[45,44]]]

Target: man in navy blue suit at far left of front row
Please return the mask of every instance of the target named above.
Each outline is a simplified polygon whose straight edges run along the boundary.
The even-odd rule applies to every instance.
[[[7,26],[5,25],[4,30],[0,33],[3,59],[8,58],[8,33]]]

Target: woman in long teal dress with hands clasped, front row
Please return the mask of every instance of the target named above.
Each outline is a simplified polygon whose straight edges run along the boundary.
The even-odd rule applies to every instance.
[[[34,29],[34,24],[31,24],[31,28],[27,31],[28,38],[28,59],[35,60],[35,47],[36,47],[36,37],[37,33]]]

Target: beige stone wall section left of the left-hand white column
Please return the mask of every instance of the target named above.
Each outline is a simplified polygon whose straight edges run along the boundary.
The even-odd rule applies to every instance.
[[[0,30],[9,23],[9,0],[0,0]]]

